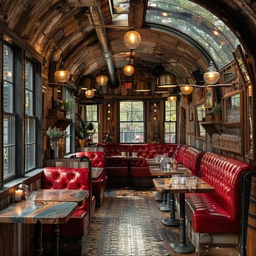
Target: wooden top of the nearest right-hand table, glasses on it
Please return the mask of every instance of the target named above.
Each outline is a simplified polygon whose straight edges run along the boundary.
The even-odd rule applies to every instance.
[[[213,192],[214,187],[207,184],[201,178],[197,177],[197,186],[195,189],[188,187],[187,185],[173,185],[171,178],[153,178],[154,188],[158,193],[173,192],[173,193],[201,193],[201,192]]]

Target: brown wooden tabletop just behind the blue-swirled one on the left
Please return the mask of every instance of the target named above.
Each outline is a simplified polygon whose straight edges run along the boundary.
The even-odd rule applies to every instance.
[[[75,202],[82,205],[88,197],[88,190],[38,189],[36,201]]]

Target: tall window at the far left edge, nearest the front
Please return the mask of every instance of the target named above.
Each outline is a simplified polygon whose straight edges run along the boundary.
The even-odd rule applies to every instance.
[[[10,45],[4,44],[3,61],[3,93],[4,93],[4,120],[3,120],[3,149],[4,149],[4,178],[15,175],[15,105],[14,105],[14,56]]]

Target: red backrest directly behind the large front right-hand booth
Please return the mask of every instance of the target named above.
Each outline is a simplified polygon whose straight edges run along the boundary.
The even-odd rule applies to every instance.
[[[200,176],[198,173],[198,168],[200,165],[200,159],[203,157],[203,154],[205,154],[205,152],[187,146],[181,154],[180,162],[182,165],[189,168],[193,175]]]

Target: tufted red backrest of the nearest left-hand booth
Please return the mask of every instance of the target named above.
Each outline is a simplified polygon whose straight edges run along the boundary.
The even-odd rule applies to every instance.
[[[42,189],[83,189],[91,196],[91,173],[89,168],[45,167],[42,173]],[[79,209],[86,210],[87,204]]]

